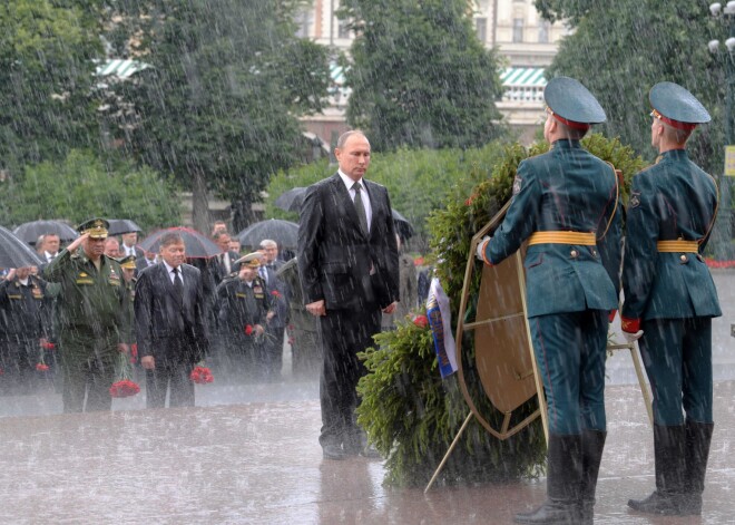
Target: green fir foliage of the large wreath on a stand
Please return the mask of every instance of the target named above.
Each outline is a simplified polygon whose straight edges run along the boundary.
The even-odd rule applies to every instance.
[[[623,171],[626,184],[621,198],[626,198],[627,182],[644,166],[640,157],[618,139],[598,134],[586,137],[582,144],[590,153]],[[548,150],[547,144],[535,144],[530,148],[520,144],[499,147],[503,152],[494,166],[474,165],[473,173],[468,174],[468,178],[474,181],[482,172],[490,176],[469,196],[457,189],[448,197],[445,206],[429,217],[431,254],[428,259],[434,261],[435,275],[450,299],[453,328],[472,236],[510,198],[518,164]],[[467,186],[457,185],[461,187]],[[476,298],[480,271],[474,271],[470,279],[470,298]],[[468,310],[471,314],[472,309]],[[422,321],[420,317],[399,321],[395,330],[375,336],[375,347],[361,354],[369,373],[357,386],[362,397],[357,420],[386,458],[384,482],[389,486],[427,484],[469,414],[457,375],[441,379],[431,330]],[[465,382],[479,411],[493,428],[500,429],[503,415],[481,390],[473,353],[472,337],[465,332],[460,356]],[[511,425],[531,415],[537,406],[535,397],[516,411]],[[472,484],[531,477],[542,470],[545,458],[540,419],[501,441],[472,418],[437,483]]]

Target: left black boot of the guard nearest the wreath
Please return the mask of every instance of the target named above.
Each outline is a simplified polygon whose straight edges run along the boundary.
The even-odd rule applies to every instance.
[[[547,500],[530,513],[516,514],[517,523],[578,524],[582,477],[581,436],[549,435]]]

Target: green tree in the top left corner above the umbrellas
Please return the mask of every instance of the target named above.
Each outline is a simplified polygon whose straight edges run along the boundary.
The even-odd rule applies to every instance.
[[[13,0],[0,7],[0,168],[96,147],[97,2]]]

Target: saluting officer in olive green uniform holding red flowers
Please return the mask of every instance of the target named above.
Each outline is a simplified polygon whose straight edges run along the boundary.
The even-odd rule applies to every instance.
[[[47,281],[60,284],[57,322],[65,412],[109,410],[117,354],[128,351],[128,292],[119,263],[104,254],[108,227],[104,218],[81,224],[81,235],[43,272]]]

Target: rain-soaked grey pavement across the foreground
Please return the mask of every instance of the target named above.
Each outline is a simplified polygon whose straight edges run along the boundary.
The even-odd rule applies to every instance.
[[[715,431],[700,518],[627,511],[654,487],[651,430],[630,358],[608,362],[599,524],[735,523],[735,272],[715,274]],[[725,298],[723,298],[725,295]],[[721,333],[722,332],[722,333]],[[287,364],[287,361],[286,361]],[[216,380],[216,379],[215,379]],[[504,524],[545,479],[390,489],[381,461],[322,459],[314,380],[197,386],[197,407],[62,415],[52,388],[0,397],[0,524]],[[490,437],[489,437],[490,439]]]

